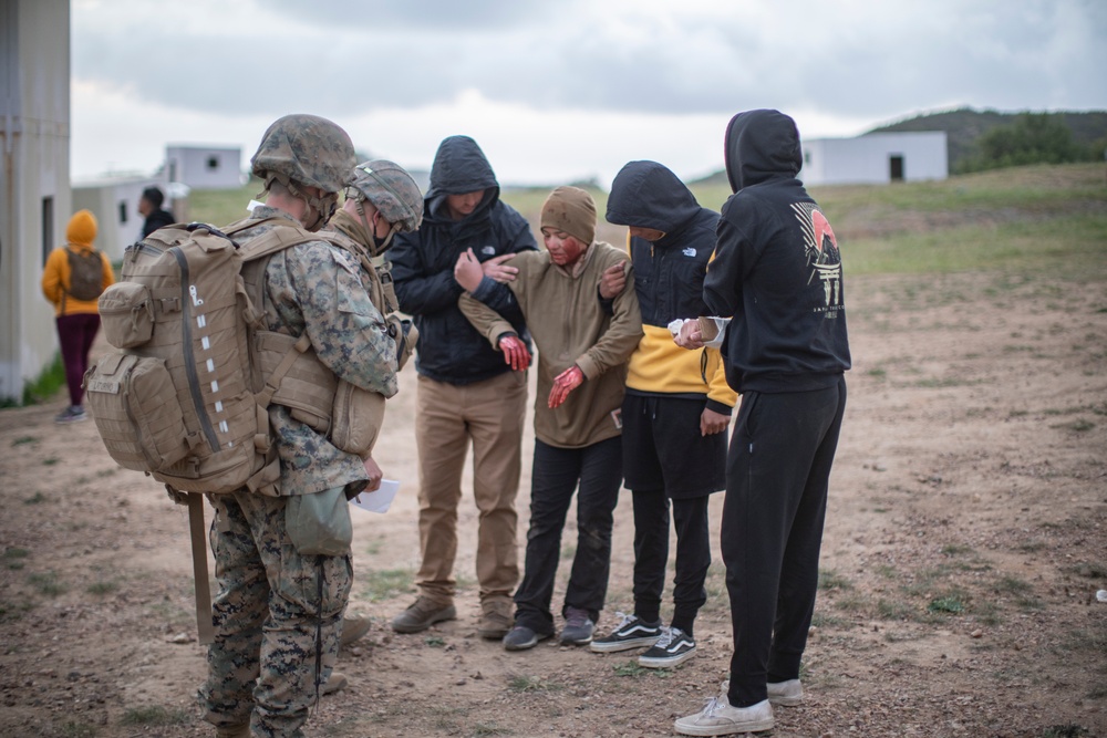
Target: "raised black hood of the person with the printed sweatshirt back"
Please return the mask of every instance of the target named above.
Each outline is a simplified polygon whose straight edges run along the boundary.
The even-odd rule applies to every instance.
[[[724,156],[735,193],[768,179],[795,177],[804,165],[796,122],[779,111],[746,111],[731,118]]]

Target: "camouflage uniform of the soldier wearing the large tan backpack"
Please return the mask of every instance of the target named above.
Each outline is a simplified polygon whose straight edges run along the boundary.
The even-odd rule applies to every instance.
[[[353,165],[352,150],[346,170]],[[271,207],[257,208],[254,216],[299,225]],[[240,238],[279,227],[263,222]],[[279,252],[266,267],[268,326],[307,333],[319,360],[337,376],[392,396],[397,388],[395,343],[360,272],[354,257],[324,240]],[[213,603],[216,636],[208,649],[208,678],[199,698],[205,719],[224,730],[249,724],[255,736],[293,738],[303,735],[300,727],[317,698],[322,664],[338,652],[353,571],[349,555],[296,550],[286,528],[286,501],[334,487],[356,489],[368,474],[360,457],[335,448],[293,419],[288,408],[271,406],[269,418],[281,459],[282,497],[247,491],[210,497],[219,593]]]

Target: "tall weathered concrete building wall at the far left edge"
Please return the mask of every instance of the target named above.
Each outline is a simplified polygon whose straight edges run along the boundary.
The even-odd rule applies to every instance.
[[[58,351],[42,267],[70,193],[70,4],[0,0],[0,399],[20,399]]]

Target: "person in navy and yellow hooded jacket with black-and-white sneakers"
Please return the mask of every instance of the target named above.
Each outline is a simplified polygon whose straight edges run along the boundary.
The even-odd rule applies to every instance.
[[[718,214],[701,207],[668,167],[643,160],[615,175],[607,218],[629,229],[645,334],[630,357],[622,406],[623,484],[634,505],[634,610],[590,648],[645,646],[640,666],[671,668],[695,656],[695,619],[707,601],[711,565],[707,507],[726,486],[726,428],[737,402],[718,350],[685,351],[669,332],[674,319],[707,314],[703,280]],[[670,519],[676,563],[673,616],[665,626]]]

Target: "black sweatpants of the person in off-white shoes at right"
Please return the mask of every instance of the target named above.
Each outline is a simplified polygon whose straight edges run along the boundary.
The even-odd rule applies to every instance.
[[[766,682],[799,676],[845,409],[844,378],[826,389],[742,396],[721,534],[734,636],[727,697],[735,707],[765,699]]]

